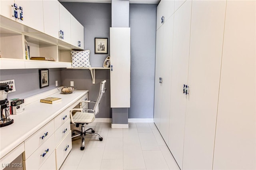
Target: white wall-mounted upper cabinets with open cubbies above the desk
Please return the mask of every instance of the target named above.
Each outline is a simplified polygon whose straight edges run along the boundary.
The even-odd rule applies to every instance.
[[[70,50],[84,49],[84,27],[58,0],[0,3],[0,69],[71,67]],[[22,7],[23,20],[13,17],[14,4],[18,16]],[[25,40],[30,57],[52,57],[55,61],[26,59]]]

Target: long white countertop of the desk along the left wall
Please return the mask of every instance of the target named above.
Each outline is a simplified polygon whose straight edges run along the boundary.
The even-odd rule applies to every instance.
[[[40,100],[35,100],[25,105],[25,111],[22,113],[11,115],[14,123],[0,128],[0,158],[24,142],[29,136],[54,119],[62,111],[76,103],[86,93],[88,93],[88,90],[76,90],[74,93],[68,95],[57,92],[49,95],[49,97],[62,98],[62,101],[48,104],[40,103]]]

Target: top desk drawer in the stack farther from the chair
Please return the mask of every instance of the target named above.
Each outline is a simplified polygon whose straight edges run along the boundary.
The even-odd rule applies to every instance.
[[[32,136],[25,140],[25,160],[50,136],[54,134],[54,121],[50,121],[44,127],[40,128]]]

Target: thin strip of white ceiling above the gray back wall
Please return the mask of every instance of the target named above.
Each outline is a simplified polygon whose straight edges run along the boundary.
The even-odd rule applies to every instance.
[[[111,3],[111,0],[59,0],[60,2]],[[129,0],[130,4],[158,4],[160,0]]]

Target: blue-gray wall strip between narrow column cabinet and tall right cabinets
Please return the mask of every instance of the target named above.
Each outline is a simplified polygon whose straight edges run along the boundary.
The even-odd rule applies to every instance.
[[[128,118],[154,117],[156,4],[130,4],[131,107]]]

